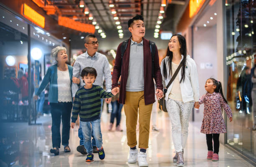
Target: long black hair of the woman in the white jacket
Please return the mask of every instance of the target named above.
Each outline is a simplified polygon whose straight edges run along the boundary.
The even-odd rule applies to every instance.
[[[183,55],[183,61],[182,63],[182,78],[179,81],[179,83],[184,82],[185,79],[185,67],[186,67],[186,59],[187,59],[187,44],[186,44],[186,39],[184,38],[184,36],[179,35],[179,34],[174,34],[172,35],[172,37],[177,36],[178,40],[179,40],[179,44],[180,44],[180,50],[179,52]],[[172,39],[172,38],[171,38]],[[172,75],[172,57],[173,57],[173,53],[172,51],[169,50],[169,46],[167,46],[166,49],[166,57],[169,57],[169,59],[167,60],[167,66],[169,67],[169,74]],[[166,63],[164,61],[164,78],[168,78],[167,76],[167,68],[166,68]]]

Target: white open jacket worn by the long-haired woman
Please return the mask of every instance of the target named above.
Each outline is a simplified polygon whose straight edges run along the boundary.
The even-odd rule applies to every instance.
[[[182,59],[183,60],[183,55],[182,55]],[[168,67],[168,63],[167,60],[169,59],[169,57],[165,57],[162,61],[161,61],[161,74],[162,74],[162,79],[163,79],[163,85],[164,87],[166,87],[169,83],[169,81],[171,80],[171,75],[169,73],[169,67]],[[167,78],[164,79],[164,61],[166,63],[166,68],[167,68]],[[181,62],[180,61],[180,62]],[[180,63],[179,62],[179,63]],[[172,73],[174,74],[175,71],[172,71]],[[182,78],[182,68],[179,70],[178,76],[179,76],[179,81]],[[167,92],[165,94],[165,100],[168,100],[168,96],[172,90],[173,87],[173,83],[169,86],[169,88],[167,89]],[[197,65],[195,63],[195,61],[190,58],[189,55],[187,55],[186,58],[186,67],[185,67],[185,79],[184,81],[182,80],[182,82],[180,83],[180,89],[181,89],[181,94],[182,94],[182,101],[184,103],[188,102],[188,101],[199,101],[199,84],[198,84],[198,74],[197,74]]]

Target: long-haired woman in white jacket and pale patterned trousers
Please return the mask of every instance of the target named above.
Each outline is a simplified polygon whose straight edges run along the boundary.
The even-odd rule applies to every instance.
[[[161,62],[164,87],[182,63],[178,75],[166,92],[166,108],[172,123],[172,140],[175,148],[173,162],[184,166],[183,149],[187,142],[189,116],[194,103],[198,104],[199,85],[195,61],[187,55],[186,39],[173,35],[169,40],[166,57]]]

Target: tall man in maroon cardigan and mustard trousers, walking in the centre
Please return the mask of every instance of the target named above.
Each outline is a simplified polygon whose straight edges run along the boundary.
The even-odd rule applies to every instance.
[[[136,163],[138,157],[139,167],[144,167],[148,165],[146,161],[146,148],[148,148],[152,104],[155,101],[151,48],[149,41],[143,38],[145,35],[145,25],[141,15],[136,15],[130,19],[128,21],[128,28],[132,36],[128,40],[123,59],[121,58],[122,43],[118,46],[113,69],[112,91],[119,92],[118,79],[122,75],[119,103],[124,104],[127,144],[131,148],[128,163]],[[163,96],[163,85],[157,48],[154,55],[154,78],[156,81],[156,96],[159,99]],[[136,149],[138,113],[140,124],[139,153]]]

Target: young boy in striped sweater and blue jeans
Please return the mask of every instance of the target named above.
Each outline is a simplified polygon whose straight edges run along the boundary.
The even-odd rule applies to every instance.
[[[100,130],[100,99],[110,98],[115,96],[111,92],[105,92],[100,86],[93,85],[97,72],[95,68],[85,67],[81,73],[82,79],[85,85],[78,89],[73,109],[72,109],[72,123],[71,128],[74,128],[77,116],[80,116],[80,125],[84,136],[84,148],[87,150],[88,155],[86,158],[87,162],[93,161],[92,154],[92,134],[95,137],[96,146],[100,159],[105,158],[105,152],[102,147],[102,134]],[[92,126],[92,127],[91,127]]]

